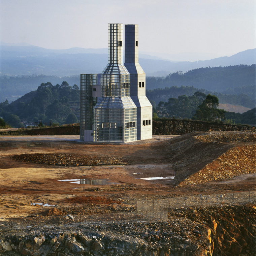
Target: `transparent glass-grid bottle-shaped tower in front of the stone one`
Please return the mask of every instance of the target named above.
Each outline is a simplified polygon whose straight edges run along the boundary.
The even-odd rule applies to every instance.
[[[123,65],[123,24],[108,24],[108,64],[101,73],[100,87],[93,140],[137,140],[137,108],[130,97],[130,74]]]

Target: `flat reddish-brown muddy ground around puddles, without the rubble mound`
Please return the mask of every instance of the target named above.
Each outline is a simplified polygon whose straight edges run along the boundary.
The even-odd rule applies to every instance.
[[[40,214],[49,207],[68,213],[97,213],[114,210],[113,205],[117,203],[135,205],[137,199],[255,190],[254,173],[241,173],[237,177],[203,184],[174,186],[177,159],[170,145],[178,138],[153,136],[151,140],[127,144],[93,144],[79,142],[78,135],[0,136],[0,220]],[[207,147],[205,143],[202,145]],[[127,164],[80,166],[76,160],[77,164],[72,162],[69,166],[49,165],[49,153],[122,158]],[[20,154],[42,154],[46,164],[13,158]],[[149,177],[165,179],[140,179]],[[76,181],[60,181],[68,179]],[[107,179],[114,184],[80,184],[80,179]],[[44,204],[55,206],[44,207]]]

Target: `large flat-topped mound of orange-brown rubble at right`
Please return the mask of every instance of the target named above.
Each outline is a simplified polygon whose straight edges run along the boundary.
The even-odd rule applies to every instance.
[[[192,132],[170,140],[174,183],[186,186],[256,172],[255,141],[254,133],[216,131]]]

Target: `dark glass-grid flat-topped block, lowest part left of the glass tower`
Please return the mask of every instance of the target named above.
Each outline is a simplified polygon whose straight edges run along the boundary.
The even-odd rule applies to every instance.
[[[80,139],[84,140],[84,130],[92,130],[93,107],[97,97],[92,97],[92,86],[97,85],[97,74],[80,75]]]

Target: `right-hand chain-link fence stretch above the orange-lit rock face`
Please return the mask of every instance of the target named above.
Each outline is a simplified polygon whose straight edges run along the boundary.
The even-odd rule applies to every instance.
[[[137,212],[147,216],[165,216],[167,209],[188,206],[211,206],[256,201],[256,191],[227,194],[193,195],[164,199],[138,200]],[[161,219],[161,218],[160,218]]]

